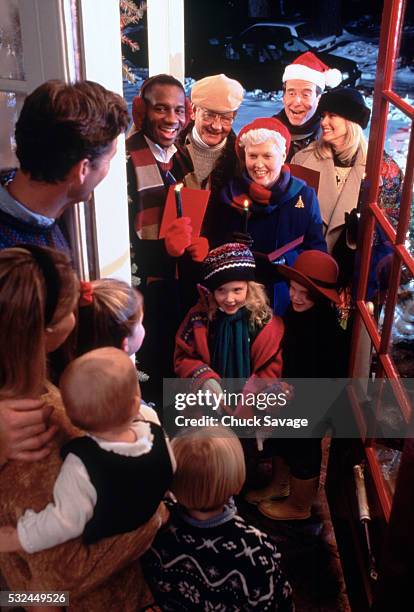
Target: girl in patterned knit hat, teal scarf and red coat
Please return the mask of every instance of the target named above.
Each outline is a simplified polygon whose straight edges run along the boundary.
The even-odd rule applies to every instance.
[[[210,251],[200,299],[176,336],[175,371],[220,393],[222,378],[279,378],[283,323],[273,315],[255,262],[243,244]]]

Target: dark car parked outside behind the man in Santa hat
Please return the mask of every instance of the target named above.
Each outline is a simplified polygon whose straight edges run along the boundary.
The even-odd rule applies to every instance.
[[[237,79],[245,89],[280,90],[282,75],[288,64],[306,51],[312,51],[330,68],[342,73],[342,85],[358,85],[361,71],[353,60],[319,52],[288,29],[252,26],[227,42],[209,44],[198,57],[192,58],[187,75],[201,79],[223,72]]]

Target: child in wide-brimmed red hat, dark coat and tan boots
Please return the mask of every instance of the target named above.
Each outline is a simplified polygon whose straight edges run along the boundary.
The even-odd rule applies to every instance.
[[[292,267],[278,266],[289,280],[291,303],[283,318],[283,378],[337,378],[346,375],[343,331],[335,305],[338,266],[321,251],[305,251]],[[290,410],[301,407],[309,397],[297,386]],[[247,494],[259,511],[274,520],[306,519],[318,491],[321,466],[319,438],[268,441],[277,454],[273,458],[270,485]],[[274,501],[274,498],[286,498]]]

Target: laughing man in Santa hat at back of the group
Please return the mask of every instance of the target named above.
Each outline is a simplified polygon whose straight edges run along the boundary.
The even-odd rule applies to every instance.
[[[342,76],[307,51],[299,55],[283,73],[283,110],[277,115],[289,130],[292,140],[286,161],[307,147],[320,134],[320,117],[316,112],[325,87],[337,87]]]

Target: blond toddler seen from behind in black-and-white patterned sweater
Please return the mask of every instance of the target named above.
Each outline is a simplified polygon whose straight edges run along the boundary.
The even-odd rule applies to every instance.
[[[157,604],[166,612],[294,610],[276,546],[232,502],[245,479],[238,438],[206,427],[183,432],[172,447],[178,503],[143,557]]]

